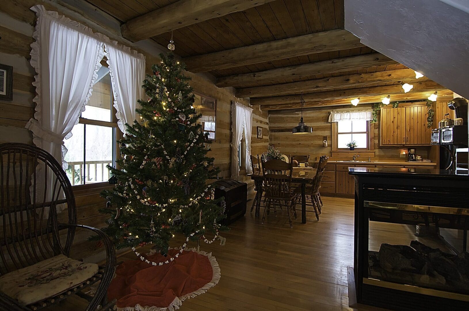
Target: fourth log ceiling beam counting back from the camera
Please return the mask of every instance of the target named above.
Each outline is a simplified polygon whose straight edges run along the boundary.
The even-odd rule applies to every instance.
[[[327,90],[337,87],[352,87],[360,84],[370,84],[379,82],[399,82],[403,80],[415,79],[412,69],[397,69],[365,73],[358,75],[335,76],[293,83],[274,84],[267,86],[255,86],[236,90],[236,97],[268,97],[289,94],[308,93],[316,90]]]

